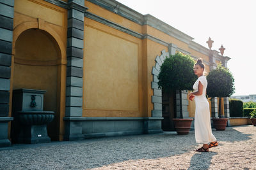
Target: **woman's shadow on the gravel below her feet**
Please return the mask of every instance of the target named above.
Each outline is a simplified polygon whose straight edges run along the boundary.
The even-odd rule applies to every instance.
[[[209,169],[212,157],[216,154],[216,152],[195,153],[193,157],[191,157],[188,169]]]

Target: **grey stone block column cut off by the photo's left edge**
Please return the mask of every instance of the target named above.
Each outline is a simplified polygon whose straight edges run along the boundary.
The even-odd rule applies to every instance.
[[[12,39],[14,0],[0,1],[0,146],[10,146],[8,122],[10,78],[12,65]]]

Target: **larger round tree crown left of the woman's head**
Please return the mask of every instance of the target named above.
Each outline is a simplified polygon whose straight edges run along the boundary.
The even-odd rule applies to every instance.
[[[193,90],[196,76],[193,72],[195,61],[190,55],[175,53],[167,57],[158,75],[158,86],[164,92],[173,90]]]

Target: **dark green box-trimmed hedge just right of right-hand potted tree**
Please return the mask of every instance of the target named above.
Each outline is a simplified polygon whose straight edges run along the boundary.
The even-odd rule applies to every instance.
[[[243,101],[229,99],[230,117],[243,117]]]

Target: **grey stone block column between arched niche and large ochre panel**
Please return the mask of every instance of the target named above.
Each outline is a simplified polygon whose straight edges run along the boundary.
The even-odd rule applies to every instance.
[[[82,124],[72,117],[83,113],[84,0],[68,0],[67,89],[65,140],[83,139]]]

